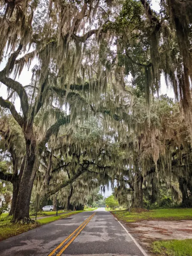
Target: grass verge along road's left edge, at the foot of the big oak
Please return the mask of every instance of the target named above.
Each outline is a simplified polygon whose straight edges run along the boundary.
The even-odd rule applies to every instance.
[[[67,218],[67,217],[77,214],[79,212],[82,212],[82,211],[61,214],[58,216],[51,216],[48,218],[38,220],[33,224],[12,224],[12,223],[10,223],[10,220],[0,221],[0,241],[7,239],[11,236],[16,236],[18,234],[21,234],[21,233],[31,230],[33,228],[39,227],[41,225],[47,224],[49,222],[57,221],[58,219],[61,219],[61,218]]]

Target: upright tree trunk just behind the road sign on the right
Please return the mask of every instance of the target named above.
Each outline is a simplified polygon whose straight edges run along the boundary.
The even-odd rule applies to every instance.
[[[132,207],[143,208],[143,175],[139,168],[139,160],[136,157],[134,160],[134,198]]]

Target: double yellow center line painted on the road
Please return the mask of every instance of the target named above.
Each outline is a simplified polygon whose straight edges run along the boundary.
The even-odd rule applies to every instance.
[[[68,243],[56,254],[56,256],[61,256],[61,254],[64,252],[65,249],[67,249],[67,247],[76,239],[76,237],[81,233],[81,231],[84,229],[84,227],[89,223],[89,221],[96,215],[96,212],[94,212],[92,215],[90,215],[89,218],[87,218],[83,223],[81,223],[81,225],[75,230],[73,231],[73,233],[71,233],[66,239],[64,239],[64,241],[61,242],[61,244],[59,244],[54,250],[52,250],[51,253],[49,253],[48,256],[52,256],[53,254],[56,253],[56,251],[61,248],[65,242],[68,241]]]

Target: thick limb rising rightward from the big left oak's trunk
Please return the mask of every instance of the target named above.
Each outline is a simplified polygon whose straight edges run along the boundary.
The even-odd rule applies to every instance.
[[[48,142],[49,138],[51,137],[51,135],[55,132],[58,131],[59,127],[61,125],[66,125],[70,123],[70,115],[68,116],[64,116],[62,118],[60,118],[57,122],[55,122],[55,124],[53,124],[46,132],[46,134],[44,135],[44,137],[42,138],[42,140],[38,143],[38,149],[40,154],[43,152],[44,146],[45,144]]]

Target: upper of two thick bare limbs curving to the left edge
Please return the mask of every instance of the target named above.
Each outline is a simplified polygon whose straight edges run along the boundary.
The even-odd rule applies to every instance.
[[[19,82],[15,81],[11,78],[6,77],[3,71],[0,72],[0,82],[5,84],[8,88],[15,90],[15,92],[18,94],[18,96],[20,98],[20,105],[21,105],[21,108],[23,111],[23,116],[25,118],[27,118],[27,114],[28,114],[28,110],[29,110],[28,97],[27,97],[26,91],[23,88],[22,84],[20,84]],[[14,118],[15,118],[15,116],[14,116]]]

